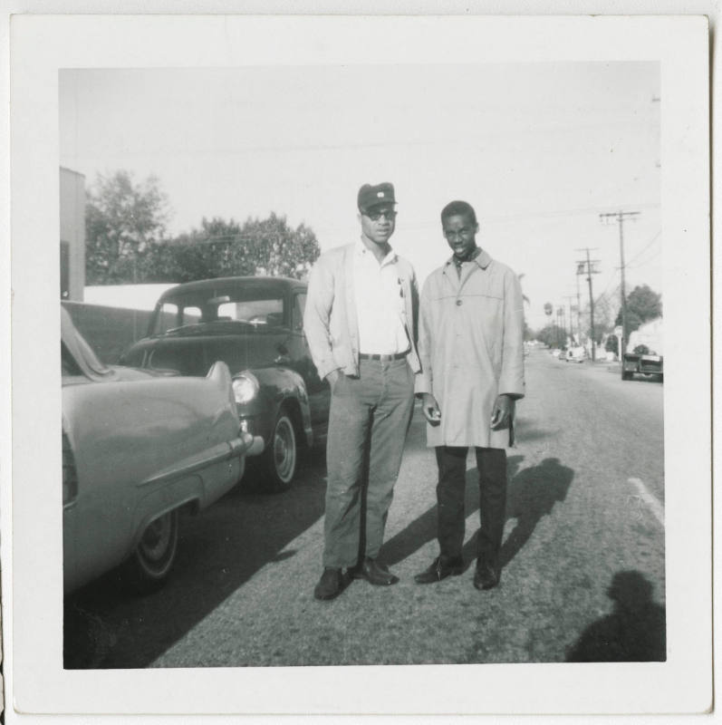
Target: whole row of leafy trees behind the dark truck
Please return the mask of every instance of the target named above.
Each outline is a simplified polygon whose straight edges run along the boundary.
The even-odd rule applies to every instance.
[[[320,249],[313,231],[284,217],[203,218],[197,229],[164,238],[168,202],[158,179],[129,171],[98,175],[86,202],[86,279],[91,285],[188,282],[229,275],[302,278]]]

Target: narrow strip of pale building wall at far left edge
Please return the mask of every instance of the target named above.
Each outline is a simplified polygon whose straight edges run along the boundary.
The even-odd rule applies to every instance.
[[[85,177],[60,168],[60,298],[82,302],[85,287]]]

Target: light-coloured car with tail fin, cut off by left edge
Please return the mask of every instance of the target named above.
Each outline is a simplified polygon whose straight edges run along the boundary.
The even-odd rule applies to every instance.
[[[106,366],[61,315],[64,592],[116,565],[148,590],[174,563],[179,510],[233,488],[252,438],[225,362],[202,378]]]

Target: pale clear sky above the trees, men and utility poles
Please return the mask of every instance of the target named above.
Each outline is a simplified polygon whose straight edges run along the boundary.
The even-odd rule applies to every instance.
[[[68,70],[60,163],[153,174],[168,232],[203,217],[313,229],[322,249],[358,237],[356,193],[392,181],[393,247],[419,280],[448,257],[438,214],[476,209],[477,242],[523,274],[532,327],[576,295],[576,261],[600,260],[594,296],[620,282],[661,289],[658,63],[498,63]],[[582,304],[586,282],[580,278]]]

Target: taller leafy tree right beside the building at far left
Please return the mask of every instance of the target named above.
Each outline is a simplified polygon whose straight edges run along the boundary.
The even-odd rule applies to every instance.
[[[129,171],[98,175],[85,207],[88,284],[140,281],[144,256],[163,236],[167,204],[155,177],[136,183]]]

